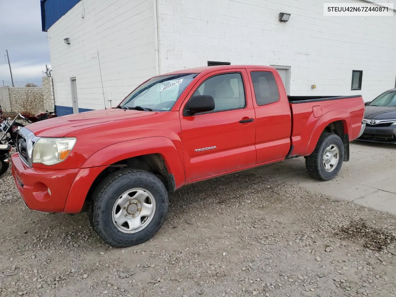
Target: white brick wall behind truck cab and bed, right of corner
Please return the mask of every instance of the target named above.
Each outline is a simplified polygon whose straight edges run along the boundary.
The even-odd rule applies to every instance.
[[[291,66],[291,95],[362,94],[368,101],[393,88],[396,13],[324,17],[323,1],[309,2],[158,0],[161,72],[207,61],[284,65]],[[290,20],[280,23],[279,12]],[[351,91],[352,70],[363,70],[361,91]]]

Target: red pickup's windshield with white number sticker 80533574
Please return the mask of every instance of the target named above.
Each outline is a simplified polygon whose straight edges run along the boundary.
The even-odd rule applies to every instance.
[[[198,73],[182,73],[154,77],[129,94],[119,107],[169,111],[197,75]]]

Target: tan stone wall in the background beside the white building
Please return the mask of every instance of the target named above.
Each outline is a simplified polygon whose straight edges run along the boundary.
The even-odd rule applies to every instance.
[[[51,77],[42,78],[42,87],[0,87],[0,104],[5,112],[29,112],[32,114],[54,110]]]

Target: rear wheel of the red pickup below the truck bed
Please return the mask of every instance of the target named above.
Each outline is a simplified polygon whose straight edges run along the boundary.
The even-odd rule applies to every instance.
[[[329,149],[331,151],[326,154]],[[333,153],[337,150],[337,163],[333,164],[335,162]],[[343,160],[344,144],[341,138],[336,134],[324,132],[320,135],[315,150],[305,158],[305,167],[310,177],[319,181],[329,181],[340,171]]]

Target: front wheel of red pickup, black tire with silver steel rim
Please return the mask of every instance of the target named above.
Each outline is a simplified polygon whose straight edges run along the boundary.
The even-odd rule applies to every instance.
[[[88,216],[103,241],[129,247],[156,234],[164,223],[168,203],[168,192],[158,177],[143,170],[120,169],[97,186]]]

